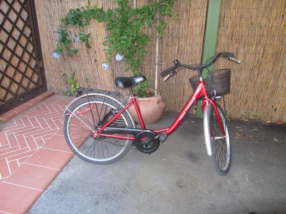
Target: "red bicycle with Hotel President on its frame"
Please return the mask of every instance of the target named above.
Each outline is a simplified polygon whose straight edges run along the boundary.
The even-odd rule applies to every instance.
[[[118,93],[92,88],[79,88],[78,97],[66,108],[64,133],[67,144],[80,158],[97,164],[112,163],[122,158],[130,149],[150,154],[155,152],[166,138],[174,132],[187,118],[190,109],[199,99],[202,100],[204,113],[204,138],[207,155],[211,157],[212,165],[220,175],[226,175],[231,165],[231,139],[227,129],[225,114],[217,100],[221,94],[230,91],[230,70],[208,72],[206,79],[202,78],[202,68],[213,63],[217,57],[224,56],[234,59],[233,53],[223,52],[206,64],[192,66],[174,61],[174,66],[163,71],[161,76],[169,73],[174,75],[179,67],[196,69],[198,76],[189,79],[194,89],[188,102],[178,114],[170,127],[159,130],[149,130],[143,122],[136,95],[132,86],[145,81],[143,75],[134,77],[117,77],[116,86],[129,88],[131,101]],[[76,104],[72,105],[74,102]],[[134,105],[141,128],[130,115],[128,108]]]

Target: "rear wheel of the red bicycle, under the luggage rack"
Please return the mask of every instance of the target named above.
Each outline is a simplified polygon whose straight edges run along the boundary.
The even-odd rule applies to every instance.
[[[83,160],[96,164],[113,163],[125,156],[132,140],[102,136],[92,138],[93,131],[103,126],[118,108],[122,108],[118,103],[101,97],[90,97],[77,102],[67,112],[64,122],[64,134],[69,148]],[[126,111],[109,126],[134,128]]]

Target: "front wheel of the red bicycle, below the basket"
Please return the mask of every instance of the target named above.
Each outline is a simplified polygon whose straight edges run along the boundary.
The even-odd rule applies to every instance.
[[[215,171],[219,175],[226,175],[231,165],[231,139],[227,129],[225,113],[219,104],[216,105],[219,111],[221,123],[223,124],[223,128],[226,133],[226,137],[224,137],[221,132],[214,108],[211,105],[208,112],[208,122],[210,123],[209,138],[212,146],[212,155],[210,158]]]

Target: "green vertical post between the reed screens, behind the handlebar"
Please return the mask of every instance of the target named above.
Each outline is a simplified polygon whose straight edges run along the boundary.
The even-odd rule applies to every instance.
[[[202,54],[202,63],[205,63],[215,54],[215,46],[217,42],[217,28],[219,25],[219,12],[221,9],[221,0],[208,0],[206,27],[204,33],[204,47]],[[207,67],[212,70],[212,64]],[[207,69],[202,71],[202,77],[206,77]],[[201,100],[198,100],[197,116],[202,117]]]

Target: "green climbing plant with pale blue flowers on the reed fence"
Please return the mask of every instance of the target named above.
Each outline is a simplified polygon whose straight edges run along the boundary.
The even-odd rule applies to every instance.
[[[144,33],[143,29],[151,27],[153,24],[158,32],[159,38],[166,34],[166,23],[160,20],[161,16],[170,16],[172,20],[176,20],[178,15],[173,15],[172,7],[174,0],[150,1],[149,5],[141,8],[132,8],[129,6],[128,0],[115,1],[118,8],[113,10],[98,8],[96,5],[91,6],[88,1],[86,7],[71,9],[67,15],[61,19],[60,29],[55,31],[59,34],[54,56],[57,58],[59,54],[76,55],[77,49],[71,47],[73,42],[80,41],[90,49],[89,38],[90,33],[84,33],[84,27],[89,25],[91,19],[98,22],[106,22],[106,31],[108,36],[104,38],[103,51],[106,53],[107,62],[102,64],[102,68],[106,70],[108,62],[111,62],[114,54],[117,53],[116,59],[121,61],[124,58],[126,66],[125,71],[132,71],[134,76],[141,74],[141,62],[148,52],[148,42],[150,37]],[[71,39],[71,35],[67,32],[67,26],[79,26],[80,31]],[[150,84],[149,84],[150,85]],[[143,89],[142,86],[139,86]],[[146,84],[144,85],[146,88]]]

